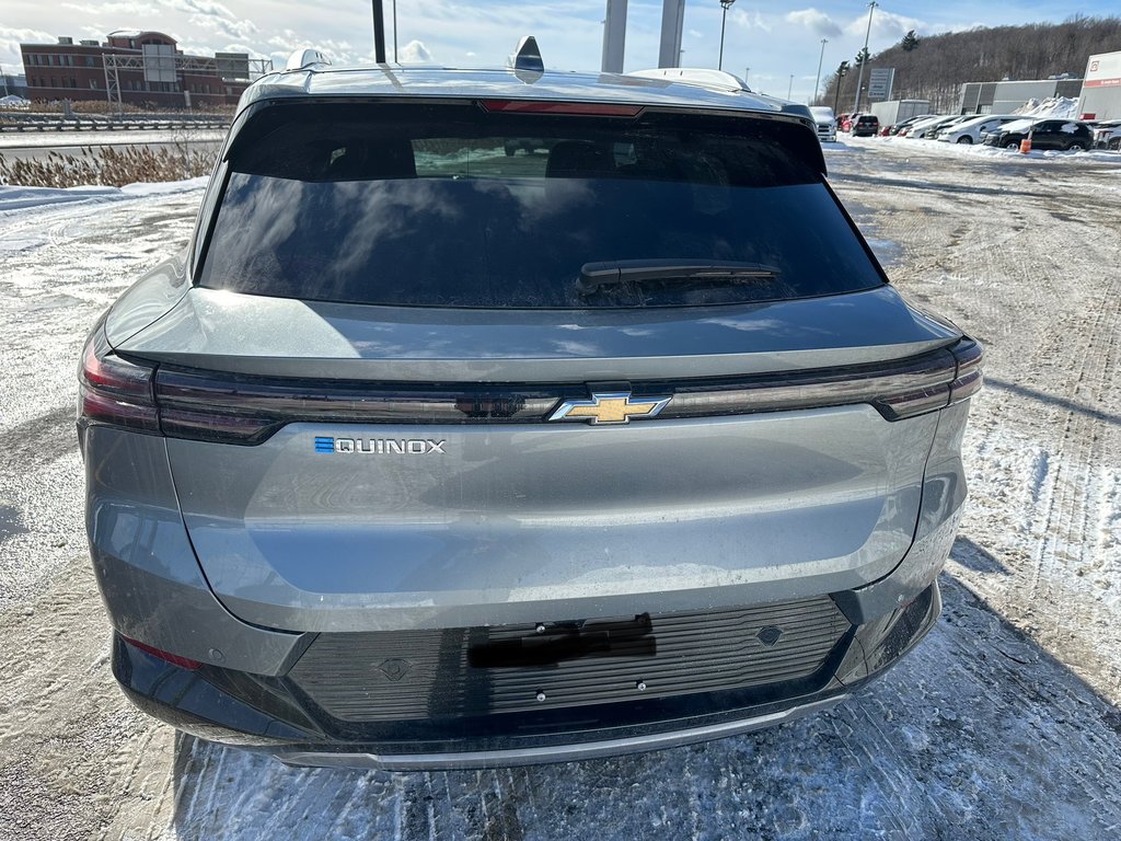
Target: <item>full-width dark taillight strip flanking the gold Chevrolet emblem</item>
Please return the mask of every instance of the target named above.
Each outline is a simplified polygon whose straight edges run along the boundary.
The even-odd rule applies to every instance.
[[[634,395],[671,394],[663,419],[869,404],[900,420],[967,399],[982,382],[981,345],[955,344],[902,360],[720,380],[634,382]],[[82,358],[78,435],[93,424],[174,438],[252,446],[291,423],[546,423],[583,385],[401,386],[268,379],[184,370],[118,357],[99,324]],[[84,440],[82,441],[84,444]]]

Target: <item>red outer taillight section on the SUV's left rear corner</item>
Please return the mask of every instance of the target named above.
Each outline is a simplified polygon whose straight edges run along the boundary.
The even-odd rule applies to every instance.
[[[101,323],[94,327],[82,352],[78,373],[78,429],[91,424],[122,426],[159,433],[159,414],[152,399],[154,369],[135,364],[113,353]]]

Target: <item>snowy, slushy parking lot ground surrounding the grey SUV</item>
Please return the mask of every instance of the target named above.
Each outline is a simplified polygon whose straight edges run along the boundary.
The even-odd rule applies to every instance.
[[[815,718],[499,771],[291,770],[129,705],[86,555],[75,368],[202,191],[10,203],[0,839],[1121,837],[1121,156],[926,146],[844,139],[826,160],[899,288],[986,348],[938,627]]]

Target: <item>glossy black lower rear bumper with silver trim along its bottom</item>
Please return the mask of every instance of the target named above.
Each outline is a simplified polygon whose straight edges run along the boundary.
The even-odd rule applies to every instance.
[[[113,673],[145,712],[200,738],[257,749],[290,765],[393,770],[537,765],[689,745],[828,709],[909,651],[934,626],[941,604],[932,582],[908,604],[850,626],[806,680],[531,713],[348,722],[326,714],[287,677],[214,666],[191,672],[119,636]]]

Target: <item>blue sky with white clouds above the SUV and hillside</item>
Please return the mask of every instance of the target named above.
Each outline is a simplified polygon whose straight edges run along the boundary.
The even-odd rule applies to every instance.
[[[890,2],[874,10],[870,49],[897,43],[908,29],[919,36],[976,26],[1053,21],[1072,15],[1117,13],[1117,0],[1068,2],[978,2],[944,0]],[[392,0],[385,0],[387,18]],[[0,65],[21,72],[20,43],[54,43],[59,35],[103,40],[113,29],[154,29],[179,41],[184,52],[248,52],[281,65],[295,48],[313,45],[335,64],[368,61],[372,54],[369,0],[3,0],[0,11]],[[501,66],[522,35],[535,35],[548,67],[597,71],[603,38],[604,0],[398,0],[400,61],[429,59],[446,66]],[[724,70],[754,90],[798,101],[814,92],[822,39],[823,77],[864,43],[869,8],[864,2],[816,6],[736,0],[728,13]],[[630,0],[626,70],[658,63],[660,0]],[[688,0],[682,64],[715,67],[720,48],[719,0]],[[392,28],[387,21],[392,59]],[[1121,46],[1121,45],[1119,45]],[[1085,67],[1069,67],[1081,74]],[[793,80],[791,80],[793,76]]]

